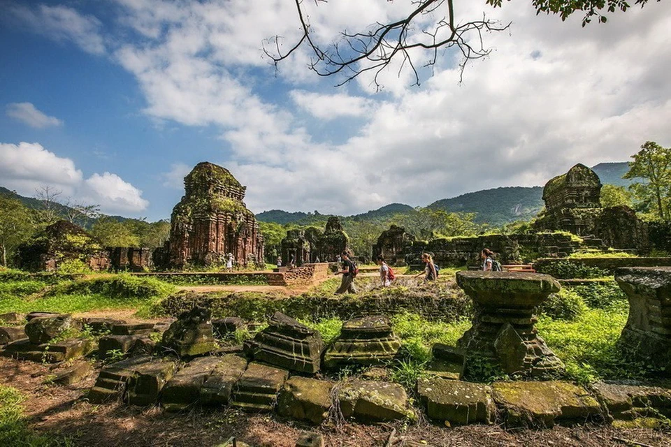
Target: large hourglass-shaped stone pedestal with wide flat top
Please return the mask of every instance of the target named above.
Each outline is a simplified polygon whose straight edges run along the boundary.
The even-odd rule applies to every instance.
[[[457,272],[456,281],[475,303],[472,328],[459,339],[468,358],[498,362],[507,374],[544,376],[563,363],[537,335],[533,309],[559,284],[547,274]],[[468,360],[467,360],[468,364]]]

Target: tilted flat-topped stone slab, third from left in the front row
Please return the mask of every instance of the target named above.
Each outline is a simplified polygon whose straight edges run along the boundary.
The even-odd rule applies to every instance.
[[[222,359],[201,357],[187,363],[163,390],[161,401],[167,411],[181,411],[199,401],[201,388]]]

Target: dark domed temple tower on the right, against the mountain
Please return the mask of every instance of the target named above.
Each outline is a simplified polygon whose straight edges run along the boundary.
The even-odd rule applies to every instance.
[[[578,163],[568,173],[550,179],[543,188],[545,210],[535,222],[539,230],[563,230],[593,235],[601,212],[601,181],[596,173]]]

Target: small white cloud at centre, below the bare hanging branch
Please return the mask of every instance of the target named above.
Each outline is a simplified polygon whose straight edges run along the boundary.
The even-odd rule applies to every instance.
[[[376,104],[375,101],[361,96],[325,95],[304,90],[292,90],[291,99],[313,117],[326,120],[339,117],[363,117],[373,112]]]

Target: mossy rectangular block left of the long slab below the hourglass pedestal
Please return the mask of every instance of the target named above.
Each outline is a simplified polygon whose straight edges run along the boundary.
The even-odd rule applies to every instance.
[[[458,425],[489,424],[496,417],[491,387],[482,383],[430,377],[419,379],[417,394],[428,417],[434,420]]]

